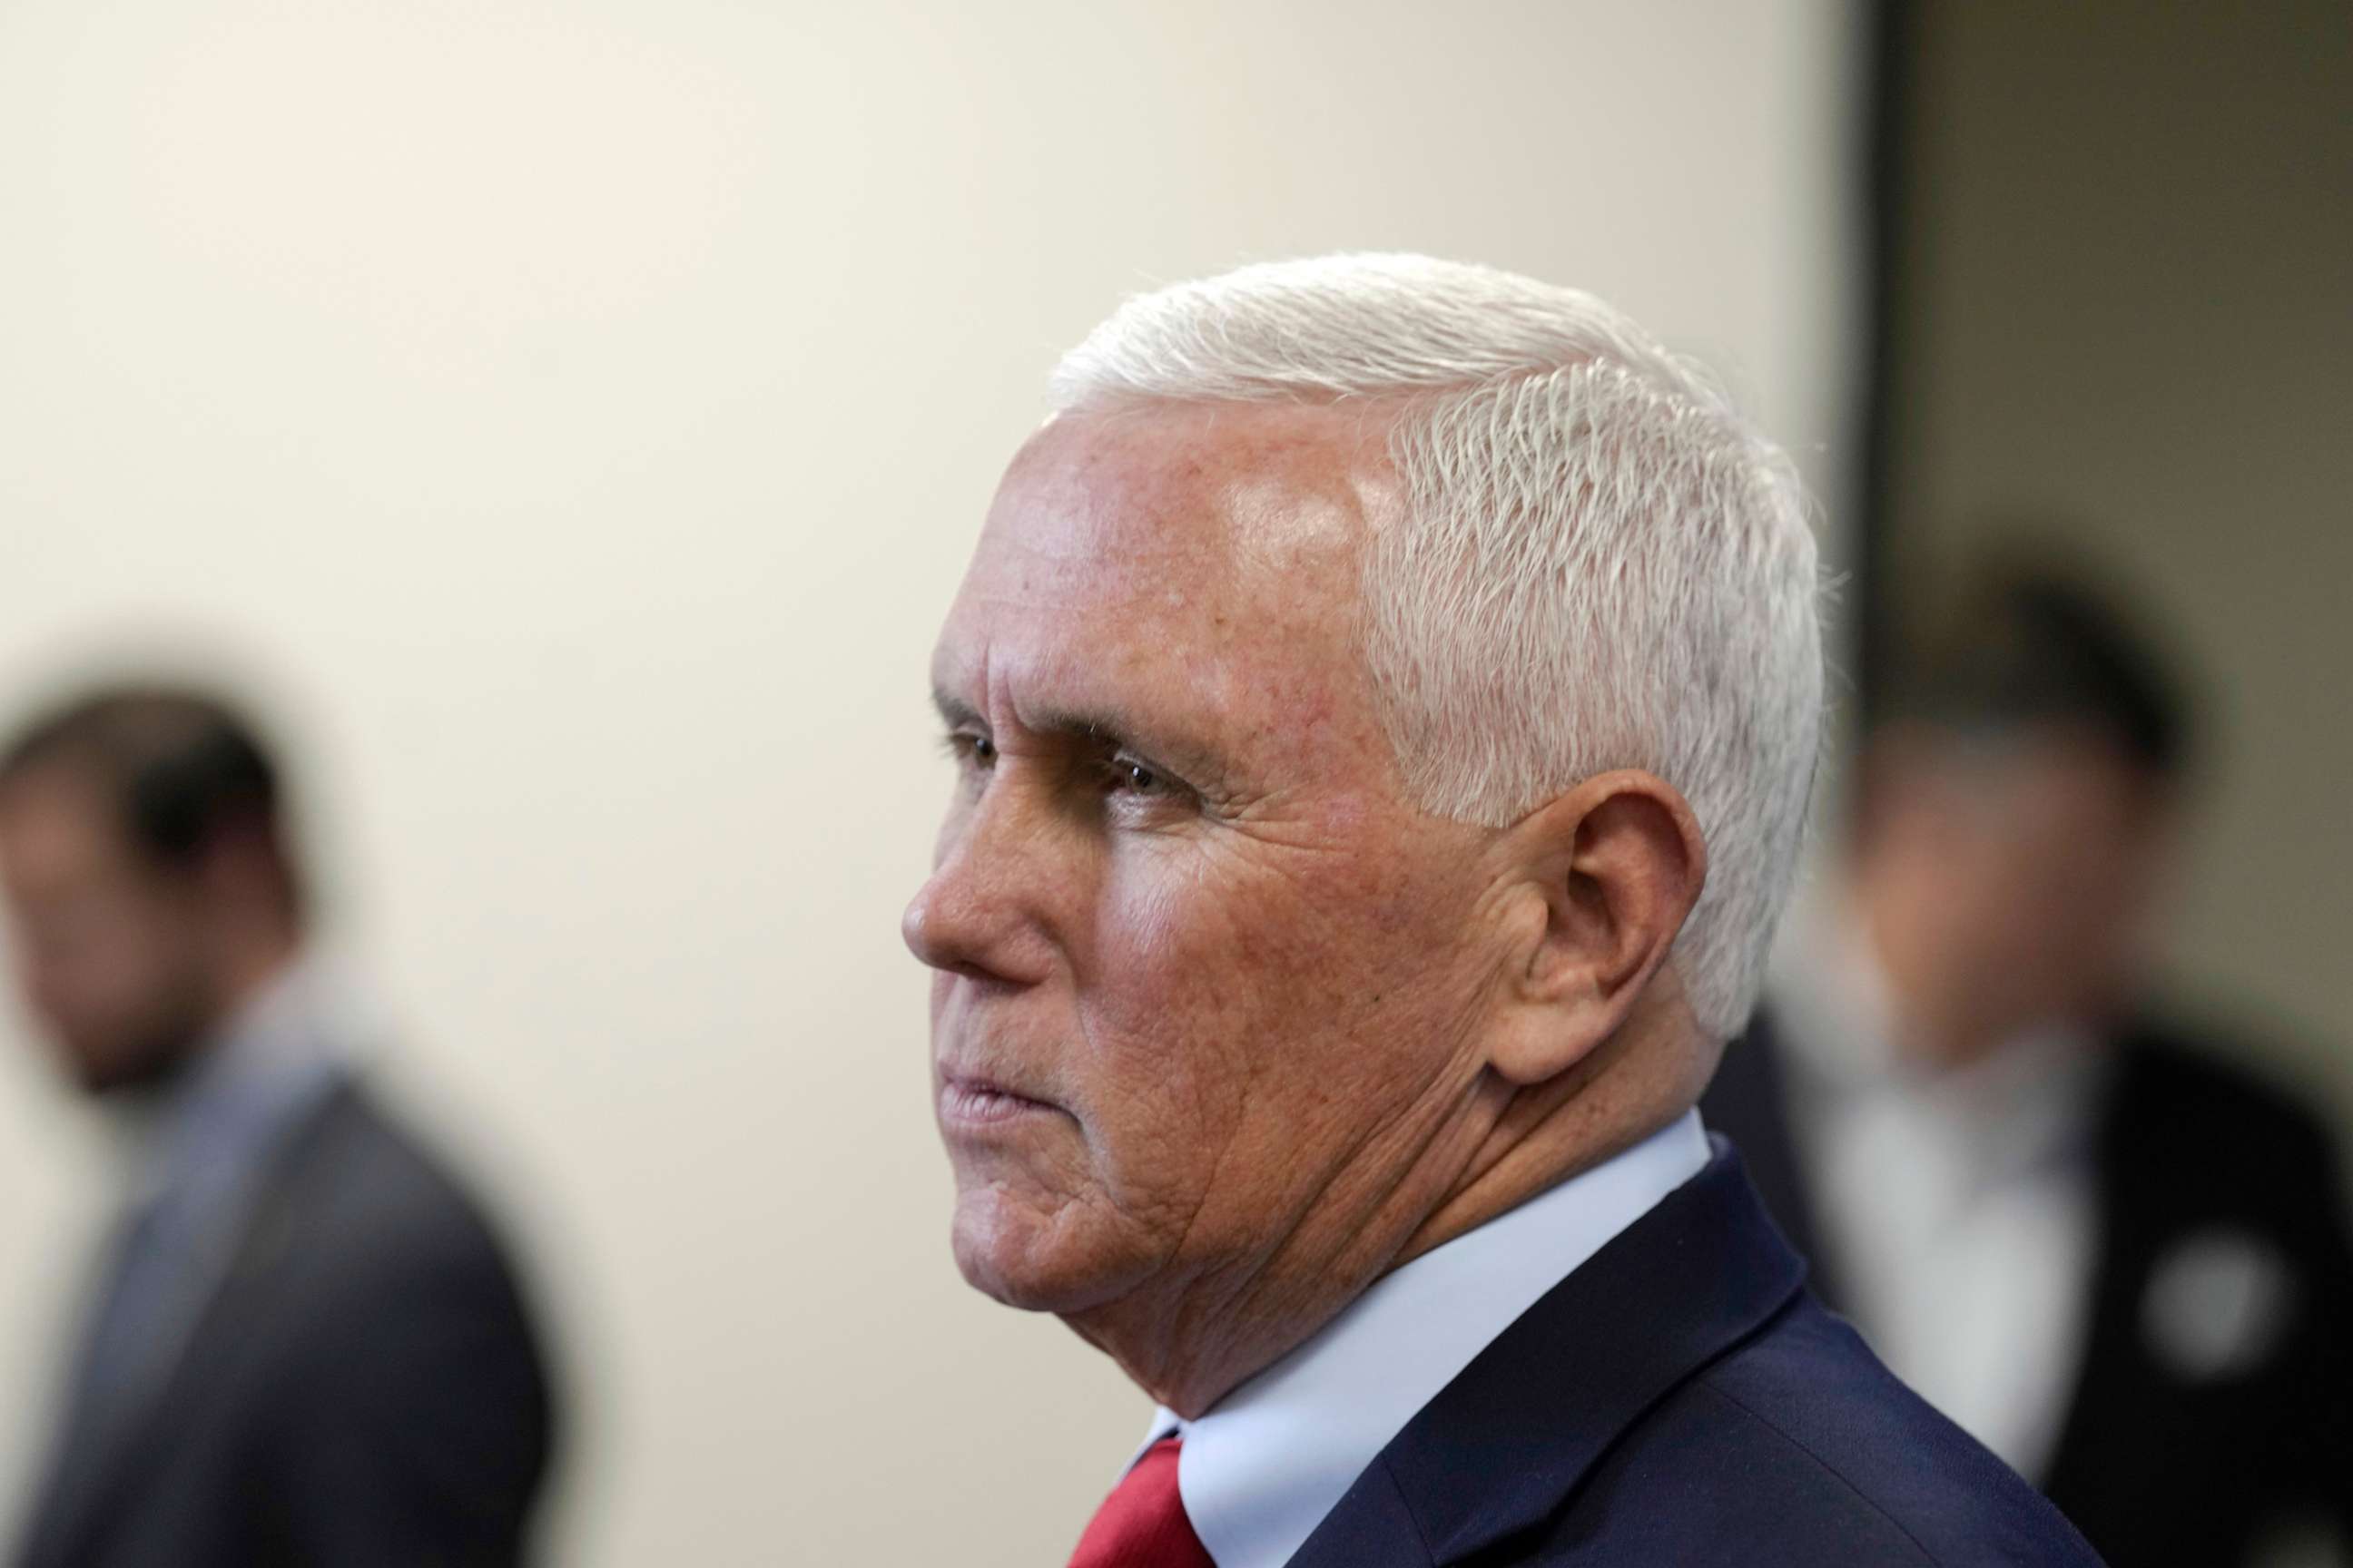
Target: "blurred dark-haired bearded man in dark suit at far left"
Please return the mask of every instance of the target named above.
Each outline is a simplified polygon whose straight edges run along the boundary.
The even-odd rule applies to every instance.
[[[165,686],[31,719],[0,893],[31,1013],[136,1150],[19,1568],[515,1563],[532,1319],[355,1070],[254,729]]]

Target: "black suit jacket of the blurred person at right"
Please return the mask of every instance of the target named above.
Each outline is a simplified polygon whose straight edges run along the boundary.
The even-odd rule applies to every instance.
[[[1779,1027],[1767,1009],[1727,1051],[1701,1114],[1746,1157],[1814,1291],[1845,1312],[1857,1260],[1826,1234],[1793,1114],[1805,1067]],[[2028,1479],[2115,1568],[2240,1563],[2266,1521],[2306,1512],[2353,1544],[2353,1246],[2329,1138],[2174,1032],[2111,1044],[2089,1117],[2082,1345],[2049,1460]],[[2245,1302],[2205,1302],[2198,1356],[2179,1342],[2200,1338],[2181,1321],[2200,1307],[2186,1286],[2219,1251],[2257,1260],[2271,1288],[2254,1319]]]

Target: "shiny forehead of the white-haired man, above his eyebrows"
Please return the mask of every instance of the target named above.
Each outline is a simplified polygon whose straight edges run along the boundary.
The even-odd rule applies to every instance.
[[[934,679],[1014,712],[1139,691],[1226,717],[1360,703],[1358,559],[1393,505],[1362,409],[1056,418],[998,489]]]

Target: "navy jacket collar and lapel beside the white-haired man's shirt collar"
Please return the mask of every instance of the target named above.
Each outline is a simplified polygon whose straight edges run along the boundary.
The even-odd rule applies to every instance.
[[[1292,1568],[1362,1568],[1412,1521],[1454,1563],[1548,1519],[1626,1427],[1798,1295],[1805,1265],[1739,1159],[1553,1286],[1381,1450]]]

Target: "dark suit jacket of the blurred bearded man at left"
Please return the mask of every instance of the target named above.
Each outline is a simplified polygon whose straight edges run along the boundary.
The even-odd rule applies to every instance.
[[[539,1340],[475,1201],[355,1074],[278,1131],[224,1251],[113,1420],[85,1347],[19,1568],[522,1561]]]

